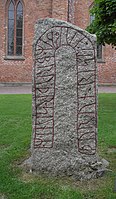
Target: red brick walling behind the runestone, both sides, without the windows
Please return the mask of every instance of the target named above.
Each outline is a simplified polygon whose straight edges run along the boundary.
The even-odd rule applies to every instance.
[[[0,1],[0,83],[31,82],[32,42],[34,24],[38,18],[53,17],[68,20],[68,10],[73,23],[85,29],[89,24],[89,9],[93,0],[23,0],[24,2],[24,60],[8,60],[6,57],[6,13],[5,2]],[[103,63],[98,64],[99,83],[116,84],[116,53],[111,47],[104,47]]]

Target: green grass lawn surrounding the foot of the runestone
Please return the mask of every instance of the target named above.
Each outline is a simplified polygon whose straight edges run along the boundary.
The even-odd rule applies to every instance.
[[[83,182],[35,176],[19,166],[30,155],[31,95],[0,95],[0,198],[116,199],[116,94],[99,95],[98,124],[98,152],[112,172]]]

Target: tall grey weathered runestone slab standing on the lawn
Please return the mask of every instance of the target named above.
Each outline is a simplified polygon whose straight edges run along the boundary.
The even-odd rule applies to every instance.
[[[36,23],[31,157],[36,171],[77,179],[100,175],[95,42],[95,36],[64,21]]]

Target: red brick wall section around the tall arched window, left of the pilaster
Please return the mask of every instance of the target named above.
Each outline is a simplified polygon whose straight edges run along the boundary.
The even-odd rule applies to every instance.
[[[24,60],[6,58],[5,1],[0,1],[0,82],[31,82],[32,42],[38,18],[51,17],[52,0],[24,0]]]

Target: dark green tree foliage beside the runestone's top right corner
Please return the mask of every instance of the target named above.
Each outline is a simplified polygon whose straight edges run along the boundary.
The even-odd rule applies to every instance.
[[[96,34],[99,44],[116,46],[116,0],[94,0],[90,14],[95,20],[87,30]]]

